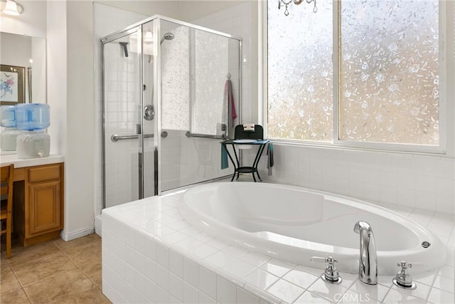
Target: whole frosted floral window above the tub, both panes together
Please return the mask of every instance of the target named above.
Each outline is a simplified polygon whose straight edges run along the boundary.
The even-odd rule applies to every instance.
[[[267,4],[268,137],[439,146],[439,1]]]

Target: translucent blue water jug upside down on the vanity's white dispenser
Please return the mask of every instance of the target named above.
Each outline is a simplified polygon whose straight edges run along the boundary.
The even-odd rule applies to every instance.
[[[49,105],[45,103],[21,103],[16,105],[16,127],[19,130],[44,130],[49,125]]]

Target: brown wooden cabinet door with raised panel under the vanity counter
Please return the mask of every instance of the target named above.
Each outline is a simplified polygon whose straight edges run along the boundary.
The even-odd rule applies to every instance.
[[[30,184],[29,233],[41,234],[62,229],[60,210],[60,182]]]

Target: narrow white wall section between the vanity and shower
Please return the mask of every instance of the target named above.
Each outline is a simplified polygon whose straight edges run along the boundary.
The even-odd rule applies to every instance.
[[[54,4],[52,4],[54,5]],[[63,239],[93,231],[94,150],[92,3],[66,2],[67,103]],[[50,77],[48,77],[50,78]],[[58,115],[63,115],[59,113]]]

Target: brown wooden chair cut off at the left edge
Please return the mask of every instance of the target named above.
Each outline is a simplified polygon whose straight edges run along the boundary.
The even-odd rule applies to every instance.
[[[11,258],[11,210],[13,209],[14,164],[1,167],[1,234],[6,234],[6,258]],[[6,223],[4,223],[6,221]]]

